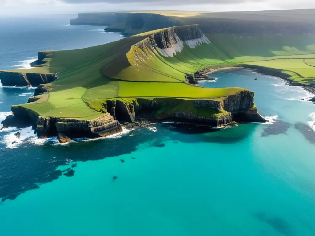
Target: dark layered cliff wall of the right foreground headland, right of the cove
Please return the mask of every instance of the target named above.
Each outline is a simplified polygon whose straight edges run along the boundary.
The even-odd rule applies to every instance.
[[[163,110],[164,108],[176,108],[183,100],[181,99],[137,99],[129,103],[119,100],[108,100],[107,111],[119,121],[134,122],[135,116],[140,114],[150,114]],[[235,95],[227,96],[222,100],[195,100],[194,106],[200,109],[217,111],[216,115],[201,116],[191,111],[174,110],[173,114],[158,115],[158,119],[176,119],[182,121],[202,122],[213,126],[224,126],[234,123],[234,116],[238,122],[266,122],[258,114],[254,105],[254,93],[242,91]],[[225,112],[224,112],[225,111]],[[218,115],[222,113],[222,115]],[[211,114],[211,112],[209,112]]]

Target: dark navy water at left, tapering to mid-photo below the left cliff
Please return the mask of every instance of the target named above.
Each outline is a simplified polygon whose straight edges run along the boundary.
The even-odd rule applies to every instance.
[[[73,142],[67,146],[54,145],[54,143],[37,146],[25,142],[18,148],[0,149],[0,163],[3,166],[0,173],[0,198],[2,202],[7,199],[14,200],[28,190],[58,179],[66,173],[58,170],[58,167],[68,166],[67,158],[73,162],[84,162],[130,154],[136,151],[139,143],[151,141],[160,135],[145,128],[133,131],[133,134],[117,139]],[[14,156],[14,159],[8,158],[9,156]],[[66,176],[72,174],[73,172],[70,171]]]

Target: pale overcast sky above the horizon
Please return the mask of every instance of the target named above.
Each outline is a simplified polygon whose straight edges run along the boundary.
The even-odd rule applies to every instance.
[[[256,11],[315,8],[315,0],[0,0],[0,16],[121,10]]]

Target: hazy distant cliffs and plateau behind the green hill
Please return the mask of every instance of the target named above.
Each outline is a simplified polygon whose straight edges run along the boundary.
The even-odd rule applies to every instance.
[[[109,25],[106,30],[134,35],[178,25],[199,24],[204,33],[312,33],[315,10],[215,12],[180,17],[154,12],[80,13],[72,25]],[[292,17],[294,16],[294,17]],[[294,19],[294,20],[293,20]]]

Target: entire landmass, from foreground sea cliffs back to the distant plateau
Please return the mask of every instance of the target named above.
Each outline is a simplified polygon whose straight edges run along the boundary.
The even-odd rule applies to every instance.
[[[238,19],[238,27],[233,28],[235,21],[223,24],[220,14],[221,21],[205,13],[181,14],[187,13],[99,14],[112,20],[107,31],[129,37],[91,48],[42,51],[32,69],[0,71],[4,86],[37,87],[27,104],[11,107],[3,128],[23,121],[34,127],[39,138],[58,136],[60,142],[68,142],[122,132],[121,123],[148,115],[157,121],[216,127],[265,122],[254,104],[254,92],[199,86],[198,80],[210,73],[234,67],[279,76],[314,91],[315,43],[309,25],[298,28],[297,23],[283,22],[275,28],[266,17],[259,23]],[[149,15],[168,20],[153,24]],[[135,24],[130,25],[130,20]],[[85,24],[84,19],[71,22]],[[177,26],[167,25],[174,22]],[[215,26],[222,24],[223,28]],[[95,25],[105,22],[99,19]],[[268,34],[258,33],[257,27]]]

